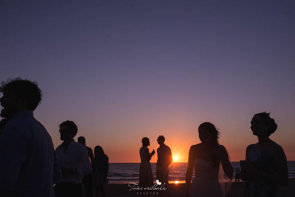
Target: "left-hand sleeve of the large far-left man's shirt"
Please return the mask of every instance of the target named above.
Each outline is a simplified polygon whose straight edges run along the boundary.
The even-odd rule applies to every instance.
[[[20,128],[6,126],[0,140],[1,196],[12,196],[18,176],[27,157],[26,133]]]

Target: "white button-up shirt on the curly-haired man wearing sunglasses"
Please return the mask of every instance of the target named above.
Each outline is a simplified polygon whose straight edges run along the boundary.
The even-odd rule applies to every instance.
[[[56,153],[62,168],[77,169],[78,172],[78,175],[63,175],[57,183],[82,183],[84,175],[92,173],[87,148],[74,139],[67,151],[64,151],[62,143],[56,148]]]

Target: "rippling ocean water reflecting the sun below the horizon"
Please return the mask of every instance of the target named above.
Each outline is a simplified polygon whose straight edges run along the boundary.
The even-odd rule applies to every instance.
[[[232,162],[234,169],[240,168],[240,162]],[[109,183],[138,183],[140,163],[109,163]],[[154,181],[156,180],[156,163],[151,163]],[[295,161],[288,161],[289,178],[295,178]],[[185,183],[187,162],[171,163],[169,166],[169,183]],[[193,177],[194,177],[193,172]],[[233,177],[235,179],[235,175]]]

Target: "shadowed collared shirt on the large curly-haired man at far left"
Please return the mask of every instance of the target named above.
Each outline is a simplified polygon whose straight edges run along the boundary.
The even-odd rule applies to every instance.
[[[14,115],[0,136],[0,196],[54,197],[61,167],[50,135],[33,111]]]

